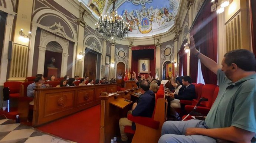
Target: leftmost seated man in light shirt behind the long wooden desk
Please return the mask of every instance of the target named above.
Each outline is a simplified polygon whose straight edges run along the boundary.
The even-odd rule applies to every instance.
[[[29,86],[27,86],[27,97],[34,98],[34,93],[35,93],[34,89],[36,88],[36,86],[42,87],[42,88],[45,88],[46,86],[49,87],[49,84],[46,84],[46,86],[45,86],[43,83],[45,83],[45,78],[42,76],[37,76],[35,79],[35,82],[32,84],[29,84]],[[29,104],[34,105],[34,100],[31,101]]]

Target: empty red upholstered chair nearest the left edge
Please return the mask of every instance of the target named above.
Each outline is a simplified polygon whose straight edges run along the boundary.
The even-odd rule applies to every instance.
[[[20,97],[20,84],[22,84],[22,82],[19,81],[9,81],[4,83],[4,87],[9,88],[10,90],[10,98]]]

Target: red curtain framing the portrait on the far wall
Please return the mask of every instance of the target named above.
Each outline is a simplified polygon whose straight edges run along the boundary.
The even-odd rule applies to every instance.
[[[151,76],[155,77],[155,45],[144,45],[132,47],[132,69],[138,76],[138,59],[150,59],[150,71]],[[140,73],[145,75],[147,78],[147,73]],[[159,75],[158,75],[159,76]]]

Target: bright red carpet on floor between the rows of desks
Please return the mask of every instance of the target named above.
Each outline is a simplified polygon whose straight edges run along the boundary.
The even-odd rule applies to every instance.
[[[101,106],[96,105],[38,129],[73,142],[99,143],[100,111]]]

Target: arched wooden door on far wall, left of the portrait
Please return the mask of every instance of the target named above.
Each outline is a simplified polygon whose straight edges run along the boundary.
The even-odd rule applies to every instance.
[[[116,83],[117,85],[121,85],[124,87],[124,74],[125,74],[125,64],[123,62],[119,62],[116,65]]]

